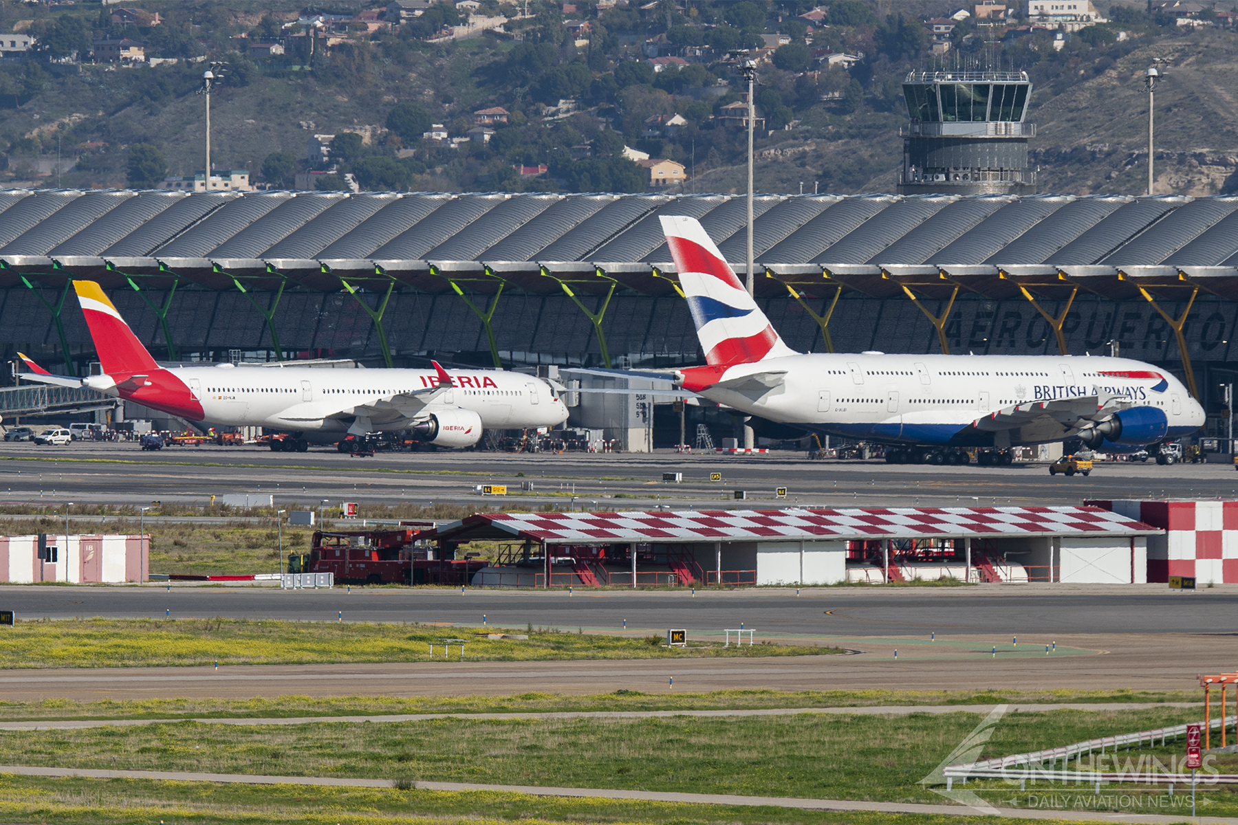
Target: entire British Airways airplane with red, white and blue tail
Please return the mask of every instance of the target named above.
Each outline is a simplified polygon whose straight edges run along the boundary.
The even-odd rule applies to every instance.
[[[884,442],[894,461],[938,460],[946,447],[992,448],[1004,461],[1013,445],[1072,437],[1124,451],[1203,425],[1177,378],[1130,359],[795,353],[695,218],[661,221],[707,361],[677,383],[717,403]]]

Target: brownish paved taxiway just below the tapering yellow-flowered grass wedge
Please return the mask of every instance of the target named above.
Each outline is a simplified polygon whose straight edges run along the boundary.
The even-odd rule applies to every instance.
[[[1030,636],[1018,648],[920,639],[848,639],[851,656],[568,662],[411,662],[4,670],[10,700],[214,696],[456,696],[771,690],[1198,690],[1198,673],[1233,669],[1231,636]],[[894,657],[894,651],[899,657]],[[673,688],[670,680],[673,679]]]

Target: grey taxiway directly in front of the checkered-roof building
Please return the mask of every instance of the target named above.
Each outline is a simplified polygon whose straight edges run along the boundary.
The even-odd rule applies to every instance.
[[[977,585],[971,588],[806,588],[713,591],[275,588],[0,586],[0,607],[20,618],[173,617],[526,625],[721,636],[754,627],[763,635],[964,636],[1009,641],[1019,635],[1228,633],[1238,585],[1171,592],[1165,585]]]

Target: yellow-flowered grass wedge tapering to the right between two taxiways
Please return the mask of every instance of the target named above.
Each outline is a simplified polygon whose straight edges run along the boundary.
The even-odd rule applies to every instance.
[[[527,633],[488,639],[487,633]],[[669,648],[661,637],[568,633],[553,630],[436,627],[370,622],[286,622],[229,618],[89,618],[19,621],[0,628],[0,668],[103,668],[219,664],[430,662],[430,646],[463,638],[467,662],[655,659],[817,656],[838,648],[773,644],[723,647],[692,642]],[[438,646],[437,659],[443,659]],[[449,657],[461,660],[458,648]]]

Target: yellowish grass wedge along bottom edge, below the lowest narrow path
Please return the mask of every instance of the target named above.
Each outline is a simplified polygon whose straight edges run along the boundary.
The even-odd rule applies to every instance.
[[[959,825],[957,816],[301,785],[0,776],[0,816],[54,825]],[[1098,818],[1099,819],[1099,818]],[[985,818],[987,825],[1028,820]],[[1041,820],[1047,824],[1061,820]]]

